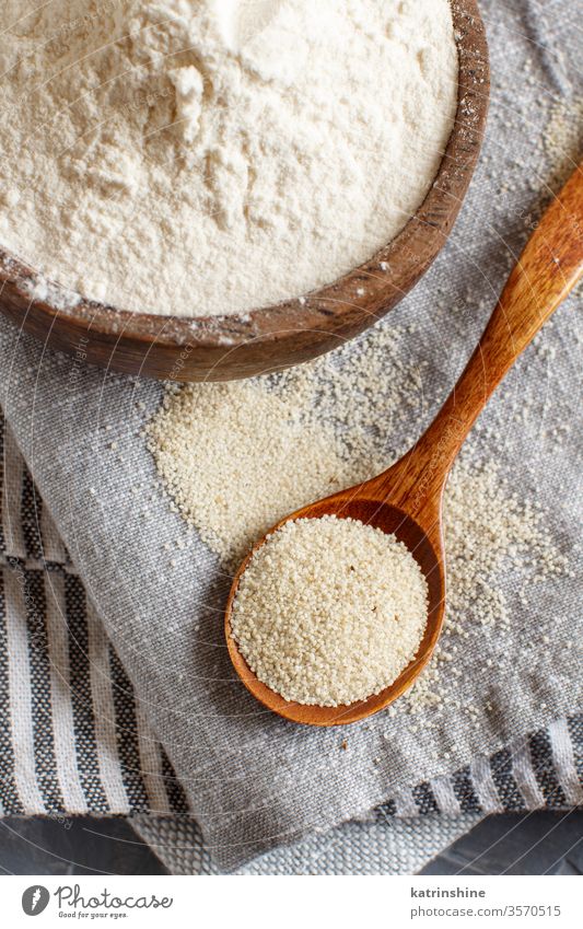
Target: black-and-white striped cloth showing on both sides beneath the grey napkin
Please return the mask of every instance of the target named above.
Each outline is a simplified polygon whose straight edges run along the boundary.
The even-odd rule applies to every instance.
[[[1,813],[189,817],[171,762],[1,418],[0,444]],[[376,815],[580,804],[583,713],[421,782]]]

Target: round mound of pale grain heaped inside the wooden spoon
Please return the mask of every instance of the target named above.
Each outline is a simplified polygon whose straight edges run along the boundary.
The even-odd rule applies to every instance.
[[[287,700],[336,707],[392,684],[427,625],[425,579],[394,535],[358,520],[285,523],[244,572],[232,632]]]

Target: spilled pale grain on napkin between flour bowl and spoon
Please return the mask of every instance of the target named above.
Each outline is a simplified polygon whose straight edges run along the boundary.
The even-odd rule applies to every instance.
[[[225,569],[278,520],[373,477],[413,441],[397,428],[419,390],[417,373],[397,361],[406,335],[377,330],[272,378],[168,388],[148,445],[172,506]],[[397,450],[386,448],[390,432]]]

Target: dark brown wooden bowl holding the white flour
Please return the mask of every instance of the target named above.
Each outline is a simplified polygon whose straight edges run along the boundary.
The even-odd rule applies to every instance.
[[[290,368],[373,325],[417,283],[443,247],[480,152],[489,101],[488,45],[476,0],[453,0],[452,9],[459,54],[452,136],[424,202],[365,265],[307,298],[245,317],[179,318],[129,313],[89,300],[67,306],[57,284],[50,286],[51,305],[37,295],[34,269],[0,249],[0,311],[68,355],[82,350],[86,361],[103,368],[185,382],[231,381]],[[31,293],[36,294],[33,300]]]

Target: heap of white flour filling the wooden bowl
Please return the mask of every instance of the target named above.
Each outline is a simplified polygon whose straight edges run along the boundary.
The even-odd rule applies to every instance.
[[[85,297],[245,312],[394,237],[456,111],[448,0],[4,0],[0,242]]]

